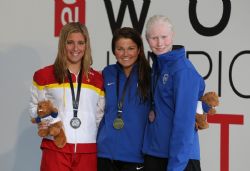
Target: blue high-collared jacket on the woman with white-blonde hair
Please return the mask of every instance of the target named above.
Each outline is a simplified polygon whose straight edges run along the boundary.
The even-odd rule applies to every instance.
[[[195,113],[204,80],[184,47],[174,46],[153,59],[152,86],[156,118],[146,126],[143,153],[168,158],[167,171],[183,171],[189,159],[200,159]]]

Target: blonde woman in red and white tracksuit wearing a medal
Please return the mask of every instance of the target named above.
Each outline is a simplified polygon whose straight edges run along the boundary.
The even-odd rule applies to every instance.
[[[58,109],[67,143],[59,148],[52,137],[41,143],[41,171],[96,171],[97,127],[103,115],[103,79],[91,68],[90,39],[85,25],[63,26],[53,65],[37,70],[31,87],[30,115],[37,104],[50,100]],[[44,125],[39,126],[43,129]]]

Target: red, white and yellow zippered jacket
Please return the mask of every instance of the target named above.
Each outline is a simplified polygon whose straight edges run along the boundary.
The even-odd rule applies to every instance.
[[[50,65],[34,73],[31,86],[30,116],[37,117],[37,103],[50,100],[58,109],[58,117],[63,122],[67,144],[57,148],[53,138],[48,136],[42,141],[42,148],[50,148],[67,153],[96,152],[96,135],[104,110],[104,91],[102,75],[90,69],[89,79],[82,74],[81,93],[77,117],[81,120],[79,128],[70,126],[73,118],[72,94],[68,79],[59,84],[54,76],[54,66]],[[77,77],[71,73],[74,92],[77,92]]]

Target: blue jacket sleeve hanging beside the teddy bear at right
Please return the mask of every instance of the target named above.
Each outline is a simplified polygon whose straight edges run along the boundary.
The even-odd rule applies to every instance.
[[[201,77],[193,70],[184,69],[175,73],[173,81],[175,112],[167,171],[183,171],[194,142]]]

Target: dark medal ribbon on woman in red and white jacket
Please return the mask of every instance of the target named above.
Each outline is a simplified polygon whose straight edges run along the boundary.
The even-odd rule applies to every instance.
[[[82,68],[80,69],[80,73],[78,75],[78,82],[77,82],[78,84],[77,84],[76,97],[75,97],[75,91],[74,91],[74,86],[73,86],[73,80],[72,80],[72,77],[71,77],[71,73],[69,72],[68,69],[67,69],[67,74],[68,74],[68,79],[69,79],[70,88],[71,88],[73,113],[74,113],[74,117],[77,117],[79,100],[80,100],[81,85],[82,85]]]

